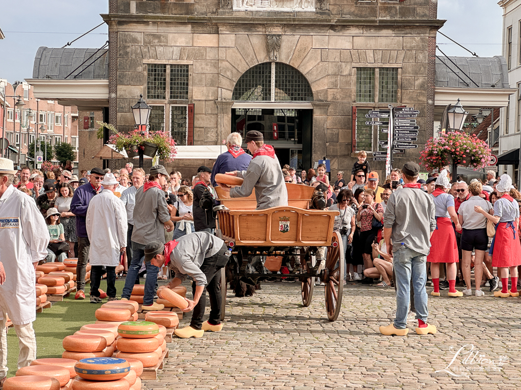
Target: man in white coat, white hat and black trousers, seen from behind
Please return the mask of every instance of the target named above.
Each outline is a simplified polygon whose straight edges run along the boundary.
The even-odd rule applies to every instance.
[[[116,267],[127,246],[127,211],[125,204],[114,194],[118,181],[107,173],[101,182],[103,191],[92,198],[87,209],[85,227],[91,250],[91,303],[101,303],[100,282],[107,270],[108,301],[116,300]]]

